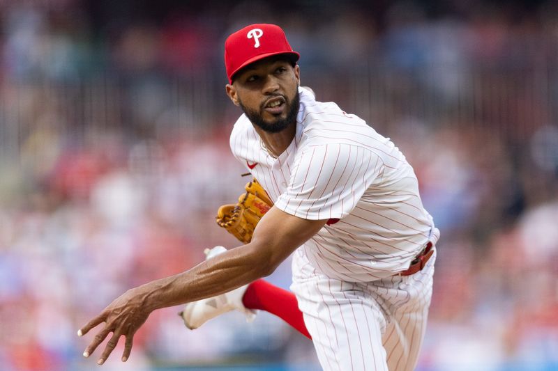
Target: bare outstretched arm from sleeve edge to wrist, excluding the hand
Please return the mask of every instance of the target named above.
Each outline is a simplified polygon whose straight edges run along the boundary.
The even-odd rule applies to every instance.
[[[258,223],[249,244],[181,274],[146,283],[137,287],[135,294],[140,295],[146,309],[155,310],[229,292],[271,274],[325,222],[300,219],[272,207]]]

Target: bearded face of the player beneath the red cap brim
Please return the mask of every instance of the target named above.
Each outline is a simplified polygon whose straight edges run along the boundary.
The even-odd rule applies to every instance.
[[[262,59],[236,74],[227,95],[250,121],[277,133],[296,121],[299,112],[299,66],[285,58]]]

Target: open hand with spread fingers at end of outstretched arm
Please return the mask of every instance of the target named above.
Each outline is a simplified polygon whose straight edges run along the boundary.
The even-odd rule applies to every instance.
[[[126,362],[132,351],[135,332],[137,329],[140,329],[140,326],[144,324],[149,314],[153,311],[146,308],[145,299],[146,294],[144,294],[140,288],[136,287],[135,289],[128,290],[112,301],[100,315],[91,319],[80,331],[77,331],[78,336],[84,336],[89,330],[93,329],[93,327],[105,322],[105,328],[97,333],[93,341],[89,344],[89,347],[85,349],[83,356],[86,358],[89,357],[89,355],[95,352],[98,345],[107,338],[108,334],[112,332],[112,337],[109,342],[107,342],[105,352],[101,354],[97,363],[99,365],[105,363],[112,350],[118,344],[121,336],[126,337],[124,352],[122,354],[122,362]]]

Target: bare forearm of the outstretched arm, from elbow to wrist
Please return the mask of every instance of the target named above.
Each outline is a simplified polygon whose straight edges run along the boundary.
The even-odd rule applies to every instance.
[[[181,274],[137,287],[150,310],[229,292],[269,274],[266,257],[250,244],[234,248]]]

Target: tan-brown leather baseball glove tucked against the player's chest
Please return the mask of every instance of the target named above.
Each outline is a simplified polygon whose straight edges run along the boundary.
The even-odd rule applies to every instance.
[[[240,242],[248,244],[259,219],[271,209],[273,201],[257,180],[246,184],[244,189],[246,193],[240,195],[239,203],[219,207],[216,220],[218,226],[225,228]]]

